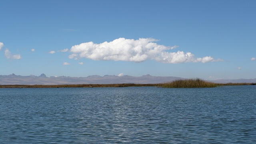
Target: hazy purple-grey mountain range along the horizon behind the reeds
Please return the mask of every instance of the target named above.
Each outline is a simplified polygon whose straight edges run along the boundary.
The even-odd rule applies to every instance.
[[[64,85],[64,84],[114,84],[114,83],[165,83],[177,79],[186,79],[182,77],[158,77],[152,75],[143,75],[133,77],[130,75],[90,75],[88,77],[47,77],[44,73],[39,76],[21,76],[21,75],[0,75],[0,85]],[[256,83],[256,79],[219,79],[212,80],[215,83]]]

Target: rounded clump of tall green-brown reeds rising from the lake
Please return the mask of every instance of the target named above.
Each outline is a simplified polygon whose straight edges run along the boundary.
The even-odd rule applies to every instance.
[[[163,83],[164,88],[200,88],[200,87],[217,87],[217,83],[211,83],[202,79],[184,79],[175,80],[170,83]]]

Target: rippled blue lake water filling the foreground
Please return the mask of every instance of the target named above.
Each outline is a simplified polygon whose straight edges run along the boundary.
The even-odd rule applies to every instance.
[[[0,89],[0,144],[255,144],[256,86]]]

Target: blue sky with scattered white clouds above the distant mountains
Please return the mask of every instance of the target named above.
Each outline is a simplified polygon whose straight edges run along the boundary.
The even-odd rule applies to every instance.
[[[1,0],[0,75],[256,78],[255,7],[255,0]]]

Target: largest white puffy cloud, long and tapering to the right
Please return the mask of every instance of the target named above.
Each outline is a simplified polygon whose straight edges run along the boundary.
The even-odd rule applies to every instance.
[[[72,52],[69,58],[78,59],[85,57],[93,60],[114,60],[114,61],[134,61],[142,62],[152,59],[162,63],[186,63],[186,62],[202,62],[221,61],[210,56],[196,58],[190,52],[177,51],[169,52],[167,50],[174,49],[178,46],[165,46],[154,43],[157,41],[153,38],[125,39],[118,38],[114,41],[93,43],[86,42],[71,47]]]

